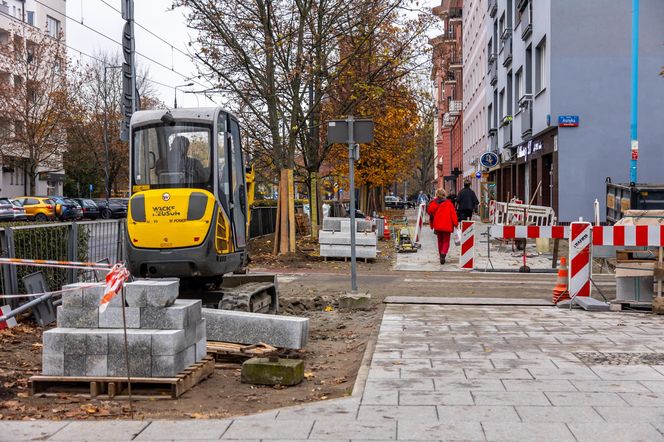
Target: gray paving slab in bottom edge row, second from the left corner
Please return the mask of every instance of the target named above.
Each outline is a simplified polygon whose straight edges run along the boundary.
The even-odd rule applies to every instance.
[[[62,430],[55,433],[49,440],[61,441],[96,441],[104,440],[131,440],[139,434],[143,428],[147,427],[149,422],[140,421],[77,421],[71,422]],[[102,437],[100,437],[102,436]]]

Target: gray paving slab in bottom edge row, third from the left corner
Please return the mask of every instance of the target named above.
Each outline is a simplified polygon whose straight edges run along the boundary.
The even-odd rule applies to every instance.
[[[134,440],[216,440],[231,424],[230,420],[153,421]]]

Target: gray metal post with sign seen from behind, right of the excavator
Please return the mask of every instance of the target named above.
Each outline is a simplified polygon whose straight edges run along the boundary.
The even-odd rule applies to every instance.
[[[345,120],[331,120],[327,123],[327,142],[348,143],[348,178],[350,191],[350,278],[351,293],[357,293],[357,258],[355,254],[355,161],[360,159],[359,143],[373,141],[374,123],[372,120],[356,120],[349,115]]]

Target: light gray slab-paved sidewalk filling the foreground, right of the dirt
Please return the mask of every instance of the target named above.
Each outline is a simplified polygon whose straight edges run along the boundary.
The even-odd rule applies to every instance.
[[[233,420],[2,421],[0,439],[664,441],[663,321],[389,304],[366,386],[351,398]]]

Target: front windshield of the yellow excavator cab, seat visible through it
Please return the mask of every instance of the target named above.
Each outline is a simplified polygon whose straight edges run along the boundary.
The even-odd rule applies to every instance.
[[[132,185],[212,189],[212,125],[153,124],[134,129]]]

